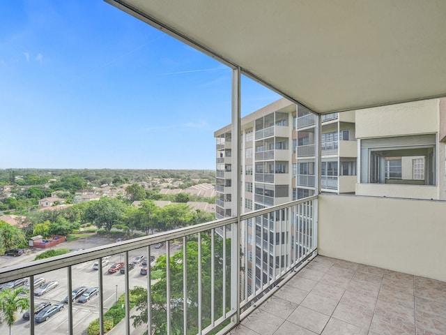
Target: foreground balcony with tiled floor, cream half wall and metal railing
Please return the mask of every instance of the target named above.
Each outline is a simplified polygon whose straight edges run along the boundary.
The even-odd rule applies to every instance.
[[[275,334],[445,334],[446,283],[423,277],[446,277],[442,266],[444,210],[443,202],[429,200],[319,195],[241,215],[240,248],[235,244],[237,218],[226,218],[3,268],[0,283],[23,277],[33,281],[44,272],[45,276],[57,274],[63,286],[59,295],[65,296],[77,280],[79,267],[89,267],[110,256],[129,262],[131,253],[141,251],[150,257],[151,246],[165,242],[168,261],[163,285],[168,289],[162,299],[174,303],[162,308],[151,306],[151,315],[159,317],[160,309],[165,315],[163,334],[169,334],[167,329],[173,332],[174,324],[178,327],[175,318],[183,320],[187,327],[194,322],[190,327],[197,326],[197,334],[209,334],[215,329],[220,329],[218,334],[273,334],[277,330]],[[277,243],[263,229],[253,231],[249,220],[268,223],[268,232],[287,234]],[[249,234],[255,236],[248,237]],[[260,246],[265,244],[272,257],[254,253],[256,241],[261,242]],[[176,263],[171,264],[169,256],[176,251],[183,251],[185,258],[176,258]],[[190,264],[189,251],[201,261],[186,271],[182,264]],[[314,258],[316,252],[329,257]],[[259,272],[253,256],[269,275],[261,275],[265,272]],[[151,270],[148,271],[150,278]],[[189,287],[189,281],[184,280],[180,288],[175,284],[178,275],[187,278],[197,273],[202,274],[197,277],[198,288]],[[256,274],[255,286],[252,274]],[[94,313],[84,317],[89,321],[105,320],[110,298],[114,300],[114,283],[109,283],[114,275],[105,275],[102,269],[96,274],[82,272],[83,277],[91,275],[97,278],[100,295]],[[130,319],[139,312],[128,307],[128,295],[136,281],[128,273],[118,276],[120,288],[126,293],[126,316],[117,332],[139,334],[141,328],[134,329]],[[213,281],[213,285],[206,280]],[[148,292],[160,287],[146,279],[138,281],[141,284]],[[32,304],[32,290],[30,299]],[[193,302],[178,308],[178,301]],[[79,306],[70,302],[66,306],[61,313],[68,322],[52,333],[82,334]],[[241,323],[231,330],[237,325],[238,315]],[[19,332],[21,327],[24,333]],[[13,334],[41,334],[39,327],[20,321],[13,325]],[[155,327],[159,327],[155,319],[142,325],[143,330]],[[7,332],[6,328],[0,329]]]

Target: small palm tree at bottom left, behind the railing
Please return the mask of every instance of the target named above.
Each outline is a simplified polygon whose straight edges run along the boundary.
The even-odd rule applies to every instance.
[[[0,292],[0,311],[9,327],[9,334],[16,320],[15,313],[29,308],[29,298],[26,295],[20,295],[22,292],[26,291],[23,288],[15,290],[6,288]]]

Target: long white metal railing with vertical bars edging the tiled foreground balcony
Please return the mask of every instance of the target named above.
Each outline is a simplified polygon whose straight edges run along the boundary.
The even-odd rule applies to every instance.
[[[254,302],[260,303],[272,295],[277,290],[275,287],[279,281],[291,277],[296,269],[300,269],[303,261],[314,257],[317,248],[317,201],[317,196],[314,196],[242,214],[240,222],[237,218],[226,218],[98,246],[79,253],[1,268],[0,284],[20,278],[28,278],[33,283],[36,276],[45,274],[47,278],[56,278],[59,281],[59,289],[62,290],[59,295],[71,296],[79,276],[82,280],[86,276],[93,276],[98,283],[99,295],[95,298],[98,310],[96,313],[82,314],[82,321],[88,319],[90,322],[89,320],[99,318],[100,334],[104,334],[105,302],[110,302],[110,299],[114,301],[115,289],[116,298],[118,297],[118,285],[115,288],[111,279],[116,274],[105,274],[102,267],[96,273],[85,269],[93,265],[93,262],[101,264],[104,258],[110,258],[113,262],[121,259],[127,269],[129,253],[143,253],[150,259],[151,246],[161,242],[165,243],[165,249],[162,250],[165,250],[166,258],[157,265],[157,271],[163,268],[165,276],[158,281],[151,281],[152,270],[148,265],[148,276],[139,277],[142,280],[137,285],[137,297],[141,298],[139,302],[142,310],[130,310],[130,292],[133,292],[133,286],[136,287],[136,277],[129,274],[130,271],[118,275],[122,278],[120,289],[125,297],[122,306],[119,303],[125,310],[125,327],[120,334],[134,334],[130,316],[143,313],[142,322],[148,334],[152,334],[155,329],[162,334],[224,334],[249,315],[252,311],[250,306]],[[263,229],[252,230],[252,222],[256,222],[258,217],[277,223],[274,229],[279,241],[270,241],[270,233],[264,234]],[[255,237],[248,239],[248,233]],[[263,258],[261,253],[259,263],[274,271],[271,271],[270,276],[261,276],[253,287],[252,274],[256,274],[253,255],[256,257],[257,237],[261,241],[268,241],[268,244],[272,243],[272,257]],[[280,245],[280,248],[275,248],[276,245]],[[181,276],[183,280],[180,279]],[[35,302],[33,292],[31,285],[31,315]],[[53,335],[86,333],[86,329],[79,329],[85,322],[79,322],[78,308],[74,305],[68,299],[68,308],[58,314],[63,315],[66,321],[52,329]],[[12,327],[14,332],[14,327],[18,326]],[[38,324],[34,324],[32,317],[28,327],[29,334],[38,332]],[[39,328],[39,334],[40,330]]]

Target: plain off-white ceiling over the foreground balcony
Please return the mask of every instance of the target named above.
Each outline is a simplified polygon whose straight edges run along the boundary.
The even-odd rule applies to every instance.
[[[314,112],[446,96],[446,0],[106,0]]]

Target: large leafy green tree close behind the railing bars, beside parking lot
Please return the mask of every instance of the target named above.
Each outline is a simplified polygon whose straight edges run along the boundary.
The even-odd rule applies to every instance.
[[[215,236],[214,246],[214,289],[215,292],[223,292],[223,272],[226,272],[226,297],[221,294],[215,295],[214,312],[216,317],[222,315],[223,299],[226,299],[226,306],[230,305],[230,267],[231,267],[231,240],[226,240],[226,269],[223,268],[223,241]],[[202,234],[201,239],[201,273],[199,274],[199,257],[198,257],[198,243],[197,241],[187,242],[186,266],[187,266],[187,334],[197,334],[197,320],[198,320],[198,276],[201,276],[202,292],[211,292],[211,237]],[[166,300],[166,285],[167,285],[167,262],[166,256],[161,255],[157,258],[154,272],[160,272],[158,276],[160,280],[153,284],[151,291],[151,305],[152,305],[152,325],[153,334],[161,335],[167,334],[167,300]],[[171,256],[169,262],[170,269],[170,293],[171,301],[171,334],[183,334],[183,251],[178,251]],[[136,308],[141,314],[132,317],[134,327],[147,324],[147,290],[144,288],[134,288],[133,294],[138,297]],[[212,303],[210,295],[203,295],[201,306],[201,317],[203,320],[203,327],[210,324],[210,317],[212,311]],[[147,333],[146,333],[147,334]]]

